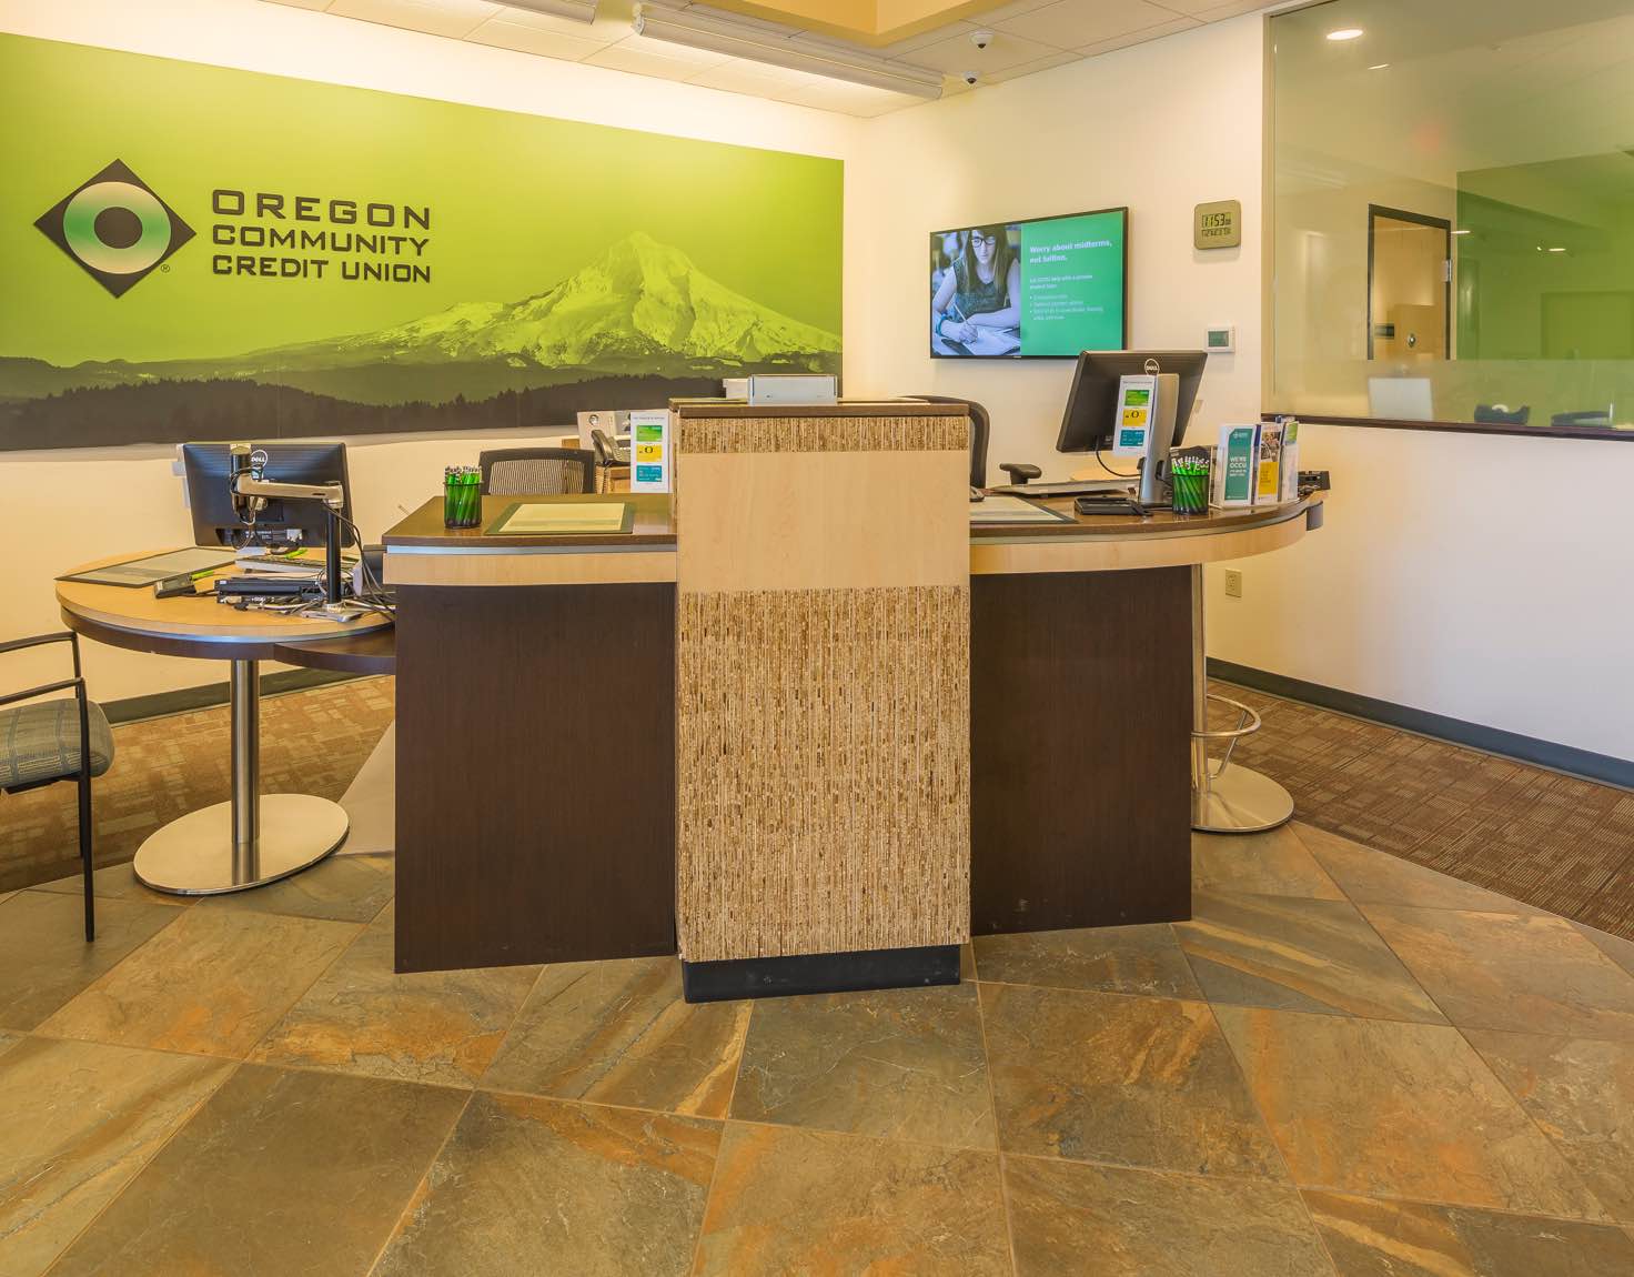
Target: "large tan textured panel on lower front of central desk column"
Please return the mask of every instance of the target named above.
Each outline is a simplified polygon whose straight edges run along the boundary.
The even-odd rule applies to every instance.
[[[969,585],[681,594],[688,961],[969,939]]]

